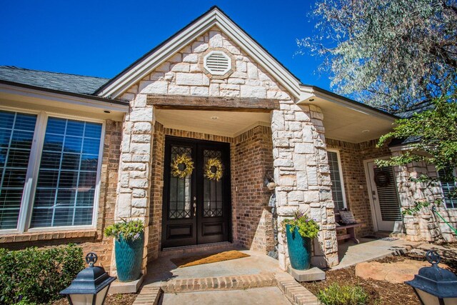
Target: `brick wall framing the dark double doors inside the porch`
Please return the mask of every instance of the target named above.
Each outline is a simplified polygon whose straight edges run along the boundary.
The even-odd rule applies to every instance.
[[[270,129],[257,126],[233,139],[227,136],[168,129],[156,122],[151,170],[148,259],[156,259],[161,246],[165,136],[230,143],[233,243],[259,251],[273,249],[271,213],[266,207],[271,192],[263,186],[263,175],[273,164]]]

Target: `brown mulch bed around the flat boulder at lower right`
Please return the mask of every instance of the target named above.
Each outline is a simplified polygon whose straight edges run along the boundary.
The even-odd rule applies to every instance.
[[[438,249],[437,249],[438,250]],[[408,259],[424,260],[423,251],[412,251],[406,256],[393,256],[386,259],[378,260],[381,263],[392,263],[395,261],[404,261]],[[442,245],[438,250],[442,257],[443,263],[447,264],[451,271],[457,271],[457,244]],[[416,305],[421,304],[418,297],[414,293],[411,286],[406,284],[391,284],[388,281],[376,281],[372,279],[362,279],[356,276],[356,268],[354,266],[348,269],[339,269],[326,272],[327,279],[325,281],[313,283],[301,283],[314,295],[318,291],[328,287],[330,284],[337,283],[340,285],[362,286],[368,293],[368,305],[392,304],[392,305]]]

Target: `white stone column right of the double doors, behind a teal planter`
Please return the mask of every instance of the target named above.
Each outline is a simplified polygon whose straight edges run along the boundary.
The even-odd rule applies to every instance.
[[[323,114],[316,106],[297,106],[293,101],[280,101],[273,111],[273,166],[278,211],[278,259],[281,269],[289,263],[281,221],[301,209],[321,226],[313,244],[312,264],[338,264],[336,226],[331,198]]]

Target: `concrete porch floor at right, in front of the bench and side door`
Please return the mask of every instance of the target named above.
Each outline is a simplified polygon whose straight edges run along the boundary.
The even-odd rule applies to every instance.
[[[338,244],[338,257],[340,264],[332,270],[348,268],[363,261],[374,261],[386,256],[405,254],[410,249],[420,245],[419,242],[397,239],[360,239],[360,244],[346,241]]]

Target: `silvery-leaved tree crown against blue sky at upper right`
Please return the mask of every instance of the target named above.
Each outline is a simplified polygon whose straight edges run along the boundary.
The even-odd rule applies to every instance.
[[[317,0],[311,19],[298,53],[322,56],[340,94],[398,112],[456,87],[456,0]]]

